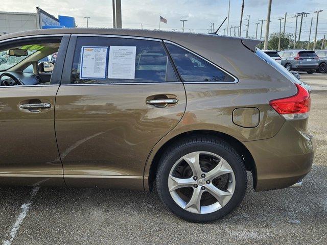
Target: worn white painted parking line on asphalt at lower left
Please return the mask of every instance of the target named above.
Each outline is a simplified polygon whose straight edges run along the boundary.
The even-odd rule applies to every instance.
[[[12,226],[11,230],[10,230],[10,234],[9,234],[9,239],[8,240],[4,240],[3,241],[3,245],[10,245],[11,242],[13,241],[13,239],[15,238],[18,230],[19,230],[19,227],[21,225],[21,223],[23,222],[27,212],[29,211],[32,203],[33,203],[33,200],[35,198],[35,195],[37,194],[38,190],[40,189],[39,186],[36,186],[32,189],[31,191],[31,194],[27,200],[26,203],[24,203],[23,205],[21,205],[21,212],[20,214],[18,215],[14,225]]]

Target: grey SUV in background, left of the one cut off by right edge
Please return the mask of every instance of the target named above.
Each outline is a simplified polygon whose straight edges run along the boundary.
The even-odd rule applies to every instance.
[[[279,53],[282,65],[288,70],[307,71],[312,74],[318,69],[318,56],[311,50],[287,50]]]

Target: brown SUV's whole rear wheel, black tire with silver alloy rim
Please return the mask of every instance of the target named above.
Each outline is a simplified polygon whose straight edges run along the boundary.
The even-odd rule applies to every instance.
[[[190,161],[190,159],[196,159],[196,157],[188,158],[188,156],[194,156],[194,154],[199,156],[199,162],[201,162],[200,171],[202,175],[197,180],[194,180],[194,176],[197,174],[193,174],[194,170],[191,169],[190,163],[184,160],[188,159]],[[223,173],[228,174],[211,179],[209,176],[214,170],[205,170],[205,167],[210,165],[208,162],[210,164],[217,162],[215,163],[217,167],[214,166],[214,169],[217,169],[218,165],[223,166],[220,167],[219,173],[222,173],[221,171],[223,170]],[[183,169],[184,167],[185,169],[189,169],[189,171],[191,169],[191,173],[188,173],[188,171],[182,172],[188,173],[186,177],[184,176],[185,179],[183,180],[194,181],[194,183],[188,185],[188,187],[177,188],[172,191],[175,186],[174,184],[177,183],[172,181],[172,179],[176,179],[174,177],[176,173],[180,174],[178,171],[175,171],[176,167],[178,169]],[[204,177],[203,174],[207,176]],[[177,179],[181,180],[180,178]],[[222,185],[226,189],[218,185]],[[229,214],[242,202],[247,188],[247,175],[241,156],[228,143],[212,136],[192,136],[174,143],[162,154],[157,168],[156,186],[161,201],[175,215],[190,222],[206,223]],[[221,196],[217,195],[217,192],[213,191],[213,189],[216,191],[217,189],[213,186],[217,187],[220,191],[223,190],[224,192],[219,192],[223,194]],[[203,190],[203,187],[205,190]],[[181,193],[182,191],[183,193]],[[200,201],[190,206],[190,203],[193,203],[191,199],[196,197],[196,194],[200,192],[202,193],[199,195]],[[212,193],[216,194],[216,197],[220,200],[219,202]],[[182,198],[186,199],[187,195],[189,195],[190,200],[183,200]],[[199,206],[200,208],[198,208]]]

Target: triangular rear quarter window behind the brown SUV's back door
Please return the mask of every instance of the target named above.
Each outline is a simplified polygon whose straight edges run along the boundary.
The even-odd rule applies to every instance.
[[[181,78],[186,82],[234,82],[235,79],[211,63],[181,47],[167,43]]]

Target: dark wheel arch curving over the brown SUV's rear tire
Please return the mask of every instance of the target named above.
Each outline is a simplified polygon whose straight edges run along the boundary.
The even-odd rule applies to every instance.
[[[242,157],[246,170],[251,171],[252,178],[253,178],[253,188],[254,189],[256,188],[257,176],[256,176],[255,162],[254,162],[254,159],[253,159],[251,153],[249,152],[249,150],[246,148],[246,146],[241,141],[239,141],[238,139],[236,139],[228,134],[218,132],[218,131],[193,130],[193,131],[184,132],[184,133],[174,136],[173,138],[171,138],[167,142],[165,142],[163,145],[161,145],[161,147],[156,151],[154,157],[152,158],[152,161],[150,162],[149,170],[147,172],[145,170],[144,187],[146,190],[150,190],[150,191],[152,190],[153,182],[156,178],[156,172],[157,172],[157,167],[159,164],[160,157],[161,157],[162,153],[168,148],[168,146],[177,142],[178,140],[180,140],[184,137],[190,137],[190,136],[194,136],[194,135],[198,135],[198,136],[210,135],[210,136],[214,136],[219,139],[222,139],[222,140],[226,141],[227,143],[229,143]]]

